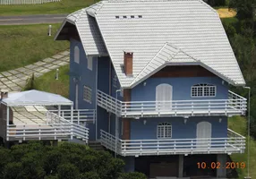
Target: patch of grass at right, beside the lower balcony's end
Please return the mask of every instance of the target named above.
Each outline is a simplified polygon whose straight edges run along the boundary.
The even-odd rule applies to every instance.
[[[228,120],[229,129],[246,136],[246,119],[241,116],[234,116]],[[250,142],[250,176],[256,178],[256,141],[251,139]],[[246,139],[246,149],[244,154],[232,154],[231,158],[234,162],[245,162],[247,164],[247,139]],[[247,166],[245,168],[240,168],[236,170],[238,172],[239,178],[243,179],[247,175]]]

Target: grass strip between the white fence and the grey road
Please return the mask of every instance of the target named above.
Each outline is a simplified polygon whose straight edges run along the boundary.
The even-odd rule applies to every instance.
[[[61,0],[48,4],[0,5],[0,15],[73,13],[97,0]]]

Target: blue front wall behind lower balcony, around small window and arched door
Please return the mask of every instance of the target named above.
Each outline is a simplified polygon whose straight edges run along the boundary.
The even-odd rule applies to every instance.
[[[222,118],[219,123],[219,118]],[[143,124],[143,120],[147,120]],[[131,120],[131,140],[154,140],[157,139],[158,123],[168,122],[172,124],[173,139],[193,139],[196,138],[197,124],[206,121],[211,124],[212,138],[225,138],[227,136],[227,117],[190,117],[187,123],[183,123],[183,117],[162,117],[162,118],[141,118]]]

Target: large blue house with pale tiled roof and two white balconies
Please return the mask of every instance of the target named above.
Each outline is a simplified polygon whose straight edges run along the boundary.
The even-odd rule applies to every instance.
[[[244,137],[245,86],[218,13],[201,0],[107,0],[68,15],[55,40],[70,41],[70,99],[96,110],[87,123],[127,171],[226,177]],[[205,166],[206,164],[206,166]],[[213,165],[213,166],[212,166]]]

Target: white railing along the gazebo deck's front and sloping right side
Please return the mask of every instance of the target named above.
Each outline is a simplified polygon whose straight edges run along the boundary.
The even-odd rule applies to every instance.
[[[7,141],[69,140],[73,137],[87,142],[89,129],[51,112],[47,112],[47,124],[10,124],[6,132]]]

